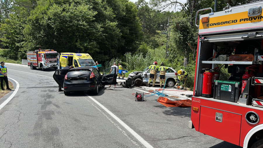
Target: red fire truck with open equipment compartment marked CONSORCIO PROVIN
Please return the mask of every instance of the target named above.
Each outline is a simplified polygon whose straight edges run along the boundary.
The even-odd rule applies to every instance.
[[[244,148],[263,147],[262,7],[263,1],[252,1],[215,13],[205,8],[195,20],[191,121],[196,131]],[[205,10],[211,13],[197,23]]]

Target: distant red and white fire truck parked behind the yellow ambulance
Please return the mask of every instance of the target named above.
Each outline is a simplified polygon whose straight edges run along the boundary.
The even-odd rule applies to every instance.
[[[43,71],[46,68],[55,68],[57,70],[59,68],[58,56],[57,51],[50,49],[27,51],[27,66],[30,66],[31,69],[42,68]]]

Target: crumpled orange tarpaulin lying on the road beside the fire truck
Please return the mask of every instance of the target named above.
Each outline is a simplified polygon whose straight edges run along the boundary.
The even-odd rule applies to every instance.
[[[190,99],[172,101],[166,97],[159,97],[157,101],[166,107],[191,107],[192,104]]]

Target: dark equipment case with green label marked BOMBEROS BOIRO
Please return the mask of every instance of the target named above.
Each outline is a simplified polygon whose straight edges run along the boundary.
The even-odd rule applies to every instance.
[[[237,102],[241,94],[241,82],[215,80],[214,99]]]

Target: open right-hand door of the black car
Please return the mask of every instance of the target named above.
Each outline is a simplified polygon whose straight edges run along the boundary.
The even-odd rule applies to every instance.
[[[103,70],[101,83],[103,85],[114,85],[116,84],[117,74],[116,74],[116,67],[111,67]]]

